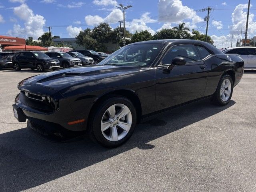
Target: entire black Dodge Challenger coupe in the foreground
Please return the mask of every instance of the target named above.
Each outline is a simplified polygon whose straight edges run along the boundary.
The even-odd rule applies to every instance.
[[[243,73],[240,56],[206,42],[137,42],[97,65],[22,80],[14,116],[19,122],[28,119],[28,128],[49,140],[87,132],[103,146],[115,147],[130,138],[140,120],[159,112],[203,98],[226,105]]]

